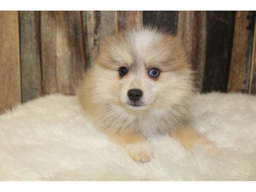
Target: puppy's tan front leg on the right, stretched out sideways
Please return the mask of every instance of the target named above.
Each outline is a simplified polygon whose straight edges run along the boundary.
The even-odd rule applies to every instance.
[[[196,132],[191,125],[180,126],[175,131],[171,131],[169,135],[179,140],[180,144],[187,150],[191,150],[193,147],[198,146],[204,148],[209,154],[218,154],[218,149],[213,142]]]

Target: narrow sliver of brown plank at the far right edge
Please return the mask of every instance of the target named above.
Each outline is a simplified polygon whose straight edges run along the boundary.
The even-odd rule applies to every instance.
[[[253,50],[250,70],[249,93],[256,95],[256,12],[253,12],[251,22],[254,23]]]

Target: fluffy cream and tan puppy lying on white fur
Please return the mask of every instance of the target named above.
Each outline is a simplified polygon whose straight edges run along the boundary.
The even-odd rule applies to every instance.
[[[101,44],[78,92],[95,126],[122,145],[134,161],[152,157],[146,138],[169,134],[186,148],[214,145],[189,124],[192,69],[176,37],[157,29],[131,29]]]

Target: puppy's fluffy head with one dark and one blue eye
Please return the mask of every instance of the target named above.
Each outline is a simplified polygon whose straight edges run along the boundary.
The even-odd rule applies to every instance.
[[[106,38],[93,73],[96,100],[128,110],[169,108],[186,102],[193,90],[180,42],[156,29],[130,30]]]

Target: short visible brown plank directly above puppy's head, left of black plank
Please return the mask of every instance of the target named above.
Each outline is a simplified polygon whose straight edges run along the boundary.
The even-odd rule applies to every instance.
[[[140,29],[143,26],[142,11],[118,11],[117,12],[117,30],[135,28]]]

